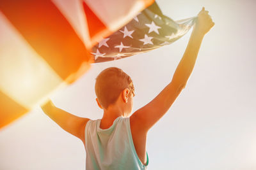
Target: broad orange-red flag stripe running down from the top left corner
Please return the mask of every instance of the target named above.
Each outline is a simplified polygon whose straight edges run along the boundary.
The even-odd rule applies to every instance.
[[[90,53],[51,1],[1,0],[0,10],[63,80],[72,83],[90,67]]]

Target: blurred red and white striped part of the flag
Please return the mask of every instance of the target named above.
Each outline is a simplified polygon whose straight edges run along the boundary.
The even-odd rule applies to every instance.
[[[152,2],[1,0],[0,128],[76,81],[92,46]]]

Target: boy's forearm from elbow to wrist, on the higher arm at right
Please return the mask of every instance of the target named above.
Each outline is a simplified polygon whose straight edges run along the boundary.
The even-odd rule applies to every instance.
[[[186,85],[189,76],[191,75],[195,66],[196,58],[200,49],[200,45],[204,38],[204,34],[199,32],[196,27],[193,28],[193,32],[189,38],[189,43],[184,52],[182,59],[173,74],[172,82],[177,85]]]

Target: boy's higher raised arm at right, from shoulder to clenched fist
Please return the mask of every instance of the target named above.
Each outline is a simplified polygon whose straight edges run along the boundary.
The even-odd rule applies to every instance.
[[[188,46],[173,74],[172,81],[150,103],[131,115],[131,125],[136,131],[148,132],[163,117],[164,113],[169,110],[182,89],[185,88],[195,66],[202,39],[211,27],[214,26],[214,22],[212,22],[211,16],[208,13],[209,11],[205,11],[204,8],[198,13]]]

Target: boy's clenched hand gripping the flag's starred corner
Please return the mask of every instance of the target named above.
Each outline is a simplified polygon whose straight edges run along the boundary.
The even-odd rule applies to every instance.
[[[208,13],[209,11],[205,11],[204,7],[198,13],[198,18],[194,27],[196,32],[205,35],[215,25],[215,23],[212,22],[212,18]]]

